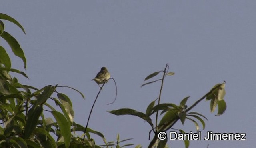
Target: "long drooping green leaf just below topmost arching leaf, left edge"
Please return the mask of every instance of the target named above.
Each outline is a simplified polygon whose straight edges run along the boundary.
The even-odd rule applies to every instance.
[[[17,40],[5,31],[0,36],[4,38],[4,40],[6,40],[6,42],[10,45],[15,56],[18,56],[22,59],[24,68],[26,69],[26,57]]]

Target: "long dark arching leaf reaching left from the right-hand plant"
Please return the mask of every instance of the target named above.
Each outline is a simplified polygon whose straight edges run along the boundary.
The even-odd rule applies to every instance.
[[[114,115],[133,115],[133,116],[137,116],[140,117],[144,120],[146,120],[146,122],[148,122],[150,124],[150,126],[153,128],[153,123],[151,121],[151,118],[149,118],[148,116],[146,116],[146,114],[142,113],[142,112],[138,112],[136,110],[130,109],[130,108],[122,108],[119,110],[112,110],[112,111],[108,111],[111,114]]]

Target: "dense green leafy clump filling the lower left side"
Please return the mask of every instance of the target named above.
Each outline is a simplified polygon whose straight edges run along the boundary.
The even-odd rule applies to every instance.
[[[14,18],[0,13],[0,37],[10,46],[15,56],[21,58],[26,69],[26,58],[18,41],[4,30],[4,22],[8,20],[16,24],[24,33],[24,28]],[[18,78],[10,72],[28,76],[20,70],[11,68],[11,60],[5,48],[0,46],[0,147],[1,148],[90,148],[97,146],[89,133],[94,133],[104,141],[104,135],[88,128],[87,139],[76,136],[75,132],[84,131],[84,127],[76,124],[70,98],[58,92],[60,87],[44,86],[41,89],[20,84]],[[56,107],[50,104],[56,104]],[[45,112],[52,114],[54,119],[46,118]],[[74,134],[72,134],[74,133]]]

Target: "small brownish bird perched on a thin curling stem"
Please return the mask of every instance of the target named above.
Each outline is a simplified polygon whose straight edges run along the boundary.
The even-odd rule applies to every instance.
[[[108,72],[108,69],[106,67],[102,67],[100,72],[98,72],[98,74],[94,79],[92,79],[92,81],[95,81],[100,87],[100,84],[107,83],[109,78],[110,73]],[[102,90],[102,87],[100,87],[100,89]]]

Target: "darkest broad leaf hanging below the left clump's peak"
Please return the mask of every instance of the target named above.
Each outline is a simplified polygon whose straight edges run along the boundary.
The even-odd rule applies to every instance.
[[[30,137],[30,134],[36,128],[39,116],[40,116],[40,114],[42,114],[42,112],[43,112],[42,106],[36,105],[36,104],[34,104],[34,106],[28,111],[28,119],[27,119],[27,122],[25,125],[24,138]]]

